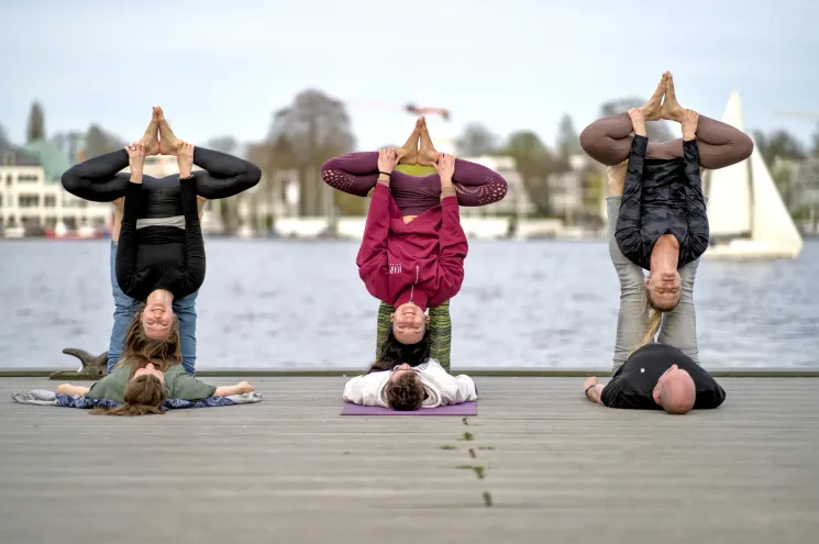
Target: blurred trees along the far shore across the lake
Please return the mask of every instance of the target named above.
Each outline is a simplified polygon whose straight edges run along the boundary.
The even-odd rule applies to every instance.
[[[600,116],[624,112],[643,103],[644,100],[639,97],[611,100],[601,104]],[[663,122],[649,123],[648,132],[653,141],[663,142],[673,137]],[[45,137],[45,112],[42,104],[35,101],[29,113],[26,142]],[[753,137],[768,166],[787,164],[788,160],[809,156],[819,157],[819,127],[807,144],[784,130],[767,133],[753,131]],[[71,157],[75,160],[110,153],[125,145],[122,137],[106,131],[98,123],[91,123],[85,132],[58,133],[53,136],[58,143],[65,143],[68,138],[82,140],[82,154]],[[8,140],[0,126],[0,144],[8,144]],[[334,210],[343,214],[358,214],[364,211],[363,199],[332,191],[321,181],[321,165],[331,157],[353,151],[355,136],[344,103],[320,90],[301,91],[290,104],[275,111],[267,135],[262,142],[242,147],[233,136],[223,135],[213,137],[203,145],[224,153],[242,152],[263,169],[266,180],[274,179],[277,171],[296,173],[295,179],[299,180],[301,195],[301,215],[328,215]],[[569,157],[583,153],[577,130],[568,114],[564,114],[558,124],[554,148],[550,148],[536,132],[530,129],[518,130],[501,138],[485,125],[471,123],[465,126],[457,140],[457,152],[462,156],[513,157],[530,198],[543,215],[552,214],[549,177],[568,171]],[[589,171],[587,175],[590,178],[599,178],[599,173]],[[789,169],[774,168],[773,175],[787,200]],[[601,181],[596,179],[594,182]],[[262,188],[268,193],[279,191],[279,198],[284,198],[284,189],[270,182]],[[236,204],[231,202],[233,200],[226,199],[220,203],[222,214],[229,219],[229,223],[235,222]]]

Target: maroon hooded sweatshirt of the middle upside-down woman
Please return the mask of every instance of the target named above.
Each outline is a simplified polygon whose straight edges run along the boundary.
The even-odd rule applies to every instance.
[[[425,311],[461,290],[468,248],[456,197],[405,223],[389,187],[377,184],[355,264],[373,297]]]

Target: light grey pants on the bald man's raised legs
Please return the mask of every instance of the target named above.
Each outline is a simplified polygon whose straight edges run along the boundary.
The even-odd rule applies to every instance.
[[[620,311],[617,315],[617,337],[615,338],[613,370],[620,368],[629,353],[645,334],[649,322],[649,308],[645,304],[645,277],[642,267],[622,254],[615,240],[617,215],[622,197],[606,197],[609,218],[609,255],[620,280]],[[679,269],[682,292],[679,304],[672,312],[663,314],[663,324],[657,341],[674,346],[699,364],[697,348],[697,314],[694,310],[694,279],[699,259]]]

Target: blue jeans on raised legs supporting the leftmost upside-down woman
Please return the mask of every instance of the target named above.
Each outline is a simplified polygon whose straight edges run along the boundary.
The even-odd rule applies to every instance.
[[[108,344],[108,371],[110,373],[120,360],[125,345],[125,333],[140,308],[140,301],[134,300],[120,289],[117,282],[117,242],[111,242],[111,292],[113,293],[113,329]],[[191,376],[196,375],[196,298],[199,291],[174,300],[174,313],[179,320],[179,341],[182,352],[182,368]]]

